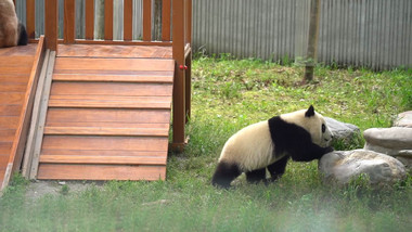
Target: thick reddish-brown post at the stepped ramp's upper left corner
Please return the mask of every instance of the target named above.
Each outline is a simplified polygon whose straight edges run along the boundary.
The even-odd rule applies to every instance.
[[[44,0],[44,37],[46,48],[57,51],[59,1]]]

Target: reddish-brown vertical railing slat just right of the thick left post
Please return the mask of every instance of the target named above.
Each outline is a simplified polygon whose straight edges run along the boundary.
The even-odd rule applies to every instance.
[[[75,42],[75,0],[64,0],[64,34],[63,42],[64,43],[74,43]]]

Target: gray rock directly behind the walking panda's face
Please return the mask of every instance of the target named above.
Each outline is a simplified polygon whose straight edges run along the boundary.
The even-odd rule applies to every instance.
[[[336,119],[325,117],[327,127],[331,129],[334,140],[344,140],[350,142],[355,134],[360,134],[357,126],[338,121]]]

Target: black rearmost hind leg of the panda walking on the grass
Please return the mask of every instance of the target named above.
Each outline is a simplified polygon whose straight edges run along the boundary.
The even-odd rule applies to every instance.
[[[215,186],[229,189],[230,183],[241,173],[242,171],[236,164],[219,162],[214,177],[211,178],[211,183]]]

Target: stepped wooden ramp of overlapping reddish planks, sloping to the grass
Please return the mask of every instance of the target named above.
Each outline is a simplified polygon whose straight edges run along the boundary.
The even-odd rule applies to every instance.
[[[168,47],[60,46],[37,178],[164,180],[170,57]]]

